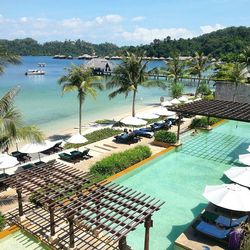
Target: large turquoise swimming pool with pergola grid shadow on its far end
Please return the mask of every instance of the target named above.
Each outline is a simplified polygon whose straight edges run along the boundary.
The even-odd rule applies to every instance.
[[[210,132],[184,135],[183,146],[116,182],[165,201],[153,216],[150,249],[174,249],[173,242],[207,205],[202,193],[207,184],[227,181],[223,172],[240,165],[238,155],[247,153],[250,124],[225,122]],[[144,227],[128,236],[132,249],[143,249]]]

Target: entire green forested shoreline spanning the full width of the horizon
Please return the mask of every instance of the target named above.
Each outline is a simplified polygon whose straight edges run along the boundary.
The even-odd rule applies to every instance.
[[[31,38],[16,40],[0,40],[0,49],[17,55],[55,55],[64,54],[79,56],[96,53],[98,56],[121,55],[124,51],[143,50],[147,56],[168,57],[173,52],[183,56],[192,55],[195,51],[203,51],[214,57],[226,54],[237,54],[250,45],[250,27],[229,27],[192,39],[155,39],[148,45],[118,47],[112,43],[92,44],[81,40],[64,42],[52,41],[39,44]]]

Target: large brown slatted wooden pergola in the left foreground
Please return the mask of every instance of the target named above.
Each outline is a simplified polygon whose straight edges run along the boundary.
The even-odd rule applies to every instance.
[[[164,202],[115,183],[93,183],[93,178],[55,161],[12,175],[5,184],[16,189],[18,210],[10,213],[8,219],[24,229],[25,220],[29,221],[27,225],[35,224],[36,230],[28,231],[39,238],[42,236],[54,248],[63,245],[78,248],[76,235],[84,232],[89,240],[81,240],[81,249],[91,249],[90,245],[98,249],[96,246],[103,244],[106,248],[102,249],[125,249],[127,234],[144,223],[144,249],[148,250],[151,216]],[[23,206],[23,194],[31,196],[42,207],[37,210],[34,206]],[[47,224],[40,228],[37,220]],[[68,225],[63,233],[62,224]],[[49,228],[49,232],[44,228]],[[80,238],[82,236],[77,238],[78,242]]]

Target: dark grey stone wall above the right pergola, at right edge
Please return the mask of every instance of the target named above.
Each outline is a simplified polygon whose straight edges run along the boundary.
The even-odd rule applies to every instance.
[[[235,85],[229,82],[215,83],[215,99],[233,101]],[[239,84],[236,102],[250,103],[250,84]]]

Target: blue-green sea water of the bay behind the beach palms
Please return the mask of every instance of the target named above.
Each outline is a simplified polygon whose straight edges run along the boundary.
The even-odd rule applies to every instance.
[[[44,76],[25,76],[28,69],[37,68],[38,63],[46,63]],[[10,65],[5,74],[0,76],[0,96],[10,88],[19,85],[21,91],[16,98],[16,105],[21,110],[24,121],[39,126],[45,133],[75,128],[78,125],[77,92],[62,95],[58,79],[65,73],[65,68],[74,63],[86,63],[84,60],[60,60],[52,57],[27,56],[22,57],[22,64]],[[115,62],[117,63],[117,62]],[[163,66],[163,61],[152,61],[148,69]],[[103,80],[104,82],[107,79]],[[194,87],[186,87],[185,91],[192,92]],[[94,100],[87,97],[83,107],[83,123],[97,119],[112,119],[131,110],[131,96],[124,95],[109,100],[111,90],[98,93]],[[140,88],[137,94],[136,107],[146,107],[152,103],[159,103],[161,96],[169,97],[168,90],[159,88]]]

